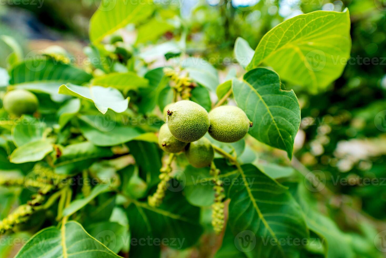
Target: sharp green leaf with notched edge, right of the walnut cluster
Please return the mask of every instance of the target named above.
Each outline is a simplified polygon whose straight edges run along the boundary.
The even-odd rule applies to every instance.
[[[237,105],[253,122],[249,134],[262,143],[287,151],[292,158],[293,143],[300,126],[300,106],[293,90],[280,88],[277,73],[257,68],[233,80]]]

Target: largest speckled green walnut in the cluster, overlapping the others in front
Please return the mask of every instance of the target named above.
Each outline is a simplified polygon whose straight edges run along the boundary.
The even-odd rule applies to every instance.
[[[208,131],[208,112],[193,101],[178,101],[166,112],[169,130],[179,141],[197,141]]]

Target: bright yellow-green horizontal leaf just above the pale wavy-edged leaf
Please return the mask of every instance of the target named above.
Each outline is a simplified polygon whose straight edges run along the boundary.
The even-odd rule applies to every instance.
[[[139,77],[134,72],[127,73],[110,73],[97,77],[91,81],[92,85],[103,87],[112,87],[118,90],[136,90],[138,88],[147,87],[149,81]]]

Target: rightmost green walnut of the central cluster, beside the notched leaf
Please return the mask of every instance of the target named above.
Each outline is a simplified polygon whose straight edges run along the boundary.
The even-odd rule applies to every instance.
[[[234,143],[247,134],[252,123],[239,107],[220,106],[209,112],[209,134],[217,141]]]

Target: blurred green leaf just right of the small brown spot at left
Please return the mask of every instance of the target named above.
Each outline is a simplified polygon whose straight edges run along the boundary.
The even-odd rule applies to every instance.
[[[98,147],[90,142],[69,144],[62,149],[61,156],[56,160],[55,172],[68,175],[74,170],[88,168],[98,158],[111,156],[113,153],[110,148]]]

